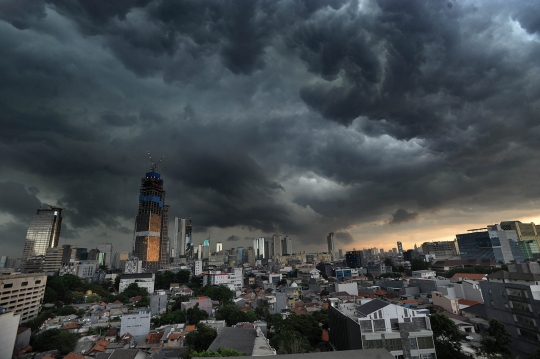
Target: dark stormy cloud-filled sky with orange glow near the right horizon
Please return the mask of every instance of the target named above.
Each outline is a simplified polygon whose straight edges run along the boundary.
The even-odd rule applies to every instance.
[[[538,59],[535,1],[2,0],[0,254],[129,251],[147,151],[195,244],[540,222]]]

